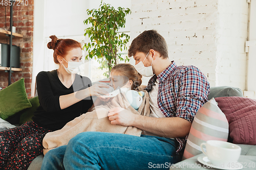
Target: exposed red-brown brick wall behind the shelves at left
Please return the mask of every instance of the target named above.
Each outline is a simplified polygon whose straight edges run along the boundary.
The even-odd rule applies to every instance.
[[[20,47],[20,68],[22,71],[12,73],[15,81],[25,78],[25,86],[28,96],[31,96],[32,82],[32,51],[33,51],[33,13],[34,1],[29,0],[28,6],[13,6],[13,26],[16,33],[22,34],[23,38],[14,38],[13,45]],[[6,22],[5,22],[6,20]],[[0,5],[0,28],[10,31],[10,6]],[[8,43],[9,39],[0,40],[1,43]],[[0,71],[0,87],[8,86],[7,72]],[[12,79],[12,83],[14,80]]]

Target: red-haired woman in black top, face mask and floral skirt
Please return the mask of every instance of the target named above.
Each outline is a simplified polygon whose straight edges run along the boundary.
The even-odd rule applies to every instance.
[[[91,80],[76,74],[81,64],[81,44],[73,39],[50,36],[48,48],[54,50],[54,62],[59,68],[41,71],[37,75],[37,93],[40,106],[33,121],[0,132],[0,169],[27,169],[31,161],[42,154],[42,139],[46,133],[61,129],[75,117],[91,108],[92,95],[108,93],[91,86]]]

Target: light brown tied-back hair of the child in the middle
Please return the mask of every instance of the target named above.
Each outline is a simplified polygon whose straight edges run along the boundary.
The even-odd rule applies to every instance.
[[[121,63],[115,65],[111,71],[117,71],[120,76],[125,76],[129,78],[129,80],[133,81],[133,84],[131,86],[132,90],[137,90],[138,87],[142,83],[142,76],[138,73],[138,71],[135,69],[135,67],[132,64],[129,63]]]

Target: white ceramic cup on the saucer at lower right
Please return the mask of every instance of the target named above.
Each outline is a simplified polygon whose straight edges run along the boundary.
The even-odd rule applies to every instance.
[[[206,152],[203,145],[206,147]],[[220,140],[208,140],[206,143],[201,143],[200,147],[211,163],[217,166],[237,162],[241,154],[239,145]]]

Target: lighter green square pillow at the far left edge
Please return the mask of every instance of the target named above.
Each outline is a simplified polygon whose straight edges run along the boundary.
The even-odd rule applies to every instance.
[[[0,117],[4,120],[31,106],[26,93],[24,78],[0,91]]]

